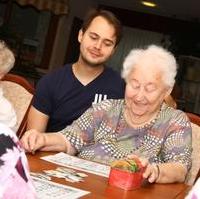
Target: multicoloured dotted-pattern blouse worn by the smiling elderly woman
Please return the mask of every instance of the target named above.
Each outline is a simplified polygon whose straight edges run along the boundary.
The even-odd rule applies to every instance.
[[[61,133],[84,159],[109,164],[135,154],[151,163],[180,162],[191,167],[191,126],[184,112],[165,103],[157,118],[140,128],[124,119],[124,100],[94,104]]]

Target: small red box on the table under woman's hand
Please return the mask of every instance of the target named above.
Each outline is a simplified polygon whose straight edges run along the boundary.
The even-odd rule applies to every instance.
[[[138,172],[111,168],[108,183],[124,190],[138,189],[143,183],[143,172],[144,168],[140,169]]]

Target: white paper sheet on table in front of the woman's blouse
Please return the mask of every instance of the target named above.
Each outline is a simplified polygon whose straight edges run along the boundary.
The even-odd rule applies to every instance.
[[[41,157],[41,159],[61,166],[86,171],[88,173],[93,173],[104,177],[108,177],[110,173],[110,167],[107,165],[80,159],[75,156],[70,156],[63,152],[57,153],[55,155],[44,156]]]

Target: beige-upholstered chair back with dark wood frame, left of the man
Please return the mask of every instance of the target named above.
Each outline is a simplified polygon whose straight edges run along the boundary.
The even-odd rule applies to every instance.
[[[26,130],[28,111],[35,89],[24,77],[11,73],[3,77],[1,86],[4,96],[16,111],[16,134],[20,138]]]

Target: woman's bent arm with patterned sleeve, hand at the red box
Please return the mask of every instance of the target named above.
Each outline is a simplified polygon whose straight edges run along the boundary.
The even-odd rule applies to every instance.
[[[144,177],[150,182],[184,182],[191,167],[192,130],[190,122],[183,112],[176,111],[175,114],[160,151],[160,158],[164,163],[148,164],[144,173]]]

